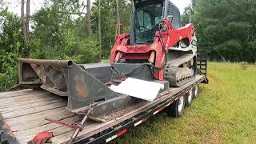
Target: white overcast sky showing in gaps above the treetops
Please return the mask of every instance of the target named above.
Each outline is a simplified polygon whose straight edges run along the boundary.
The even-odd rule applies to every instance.
[[[86,1],[86,0],[85,0]],[[176,6],[178,6],[179,10],[181,10],[181,13],[183,13],[183,10],[186,6],[190,6],[191,0],[170,0],[171,2],[174,2]],[[9,10],[20,15],[20,7],[21,7],[21,0],[4,0],[4,2],[7,3],[9,6]],[[44,0],[30,0],[30,11],[31,14],[34,14],[37,10],[40,9],[40,7],[43,6]],[[94,0],[92,0],[94,2]]]

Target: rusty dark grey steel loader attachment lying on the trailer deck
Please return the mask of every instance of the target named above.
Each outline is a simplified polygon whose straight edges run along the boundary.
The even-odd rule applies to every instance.
[[[71,61],[19,59],[20,84],[68,97],[67,109],[79,113],[96,103],[94,116],[110,114],[136,102],[138,98],[117,94],[108,84],[126,76],[152,81],[150,66],[125,63],[78,65]]]

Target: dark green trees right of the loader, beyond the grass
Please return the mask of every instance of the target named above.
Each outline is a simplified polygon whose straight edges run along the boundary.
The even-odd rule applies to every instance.
[[[255,62],[256,38],[254,0],[196,0],[193,22],[197,28],[198,45],[232,62]]]

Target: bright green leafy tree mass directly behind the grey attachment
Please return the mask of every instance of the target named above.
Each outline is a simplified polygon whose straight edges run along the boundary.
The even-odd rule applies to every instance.
[[[71,59],[95,62],[98,42],[86,34],[86,18],[78,1],[54,2],[34,14],[31,58]]]

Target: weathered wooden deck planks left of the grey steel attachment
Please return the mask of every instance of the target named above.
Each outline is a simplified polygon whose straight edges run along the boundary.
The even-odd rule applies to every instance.
[[[69,131],[68,128],[46,121],[45,118],[64,122],[81,120],[81,116],[66,110],[66,102],[67,98],[44,90],[3,92],[0,93],[0,112],[14,135],[21,143],[26,143],[44,130],[54,130],[56,134]]]

